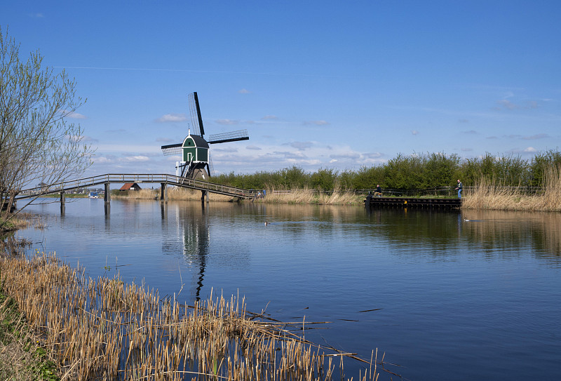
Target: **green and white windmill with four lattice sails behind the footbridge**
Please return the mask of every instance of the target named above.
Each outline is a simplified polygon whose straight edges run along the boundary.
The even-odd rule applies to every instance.
[[[182,178],[208,180],[212,175],[212,161],[210,160],[209,145],[249,140],[247,130],[231,131],[209,135],[205,140],[205,128],[201,117],[201,107],[198,105],[197,93],[191,93],[189,98],[189,112],[193,125],[193,133],[189,129],[183,142],[173,145],[163,145],[162,152],[165,156],[182,155],[182,161],[175,164],[175,174]]]

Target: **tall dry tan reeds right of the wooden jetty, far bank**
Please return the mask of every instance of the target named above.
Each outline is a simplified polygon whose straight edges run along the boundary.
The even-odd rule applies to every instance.
[[[503,187],[482,178],[466,192],[463,209],[520,210],[529,212],[561,211],[561,168],[549,167],[541,192],[525,194],[520,188]]]

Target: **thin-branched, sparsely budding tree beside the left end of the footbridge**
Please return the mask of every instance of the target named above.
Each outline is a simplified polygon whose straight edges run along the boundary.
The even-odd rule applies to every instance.
[[[43,67],[39,51],[20,60],[20,45],[1,27],[0,55],[0,206],[6,210],[1,230],[13,218],[13,200],[22,189],[80,175],[91,165],[93,151],[81,142],[82,128],[67,123],[85,102],[76,98],[74,79]]]

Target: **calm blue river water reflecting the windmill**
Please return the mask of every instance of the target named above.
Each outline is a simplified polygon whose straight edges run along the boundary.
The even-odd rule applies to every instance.
[[[561,379],[560,213],[96,199],[29,211],[48,228],[19,236],[91,276],[330,321],[306,338],[377,348],[408,380]],[[345,368],[357,379],[360,365]]]

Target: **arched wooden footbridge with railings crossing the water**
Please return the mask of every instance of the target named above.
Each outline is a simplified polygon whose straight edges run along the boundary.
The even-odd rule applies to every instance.
[[[241,189],[236,187],[228,187],[227,185],[215,184],[214,182],[192,180],[187,178],[182,178],[180,176],[174,175],[139,175],[139,174],[116,174],[108,173],[107,175],[93,176],[91,178],[82,178],[79,180],[71,180],[65,182],[59,182],[53,185],[43,185],[42,187],[35,187],[30,189],[23,189],[18,196],[15,196],[15,200],[19,199],[30,199],[36,197],[38,194],[60,194],[60,202],[65,202],[65,193],[68,193],[74,189],[88,188],[95,185],[104,185],[105,194],[104,201],[106,203],[111,202],[111,184],[112,183],[126,183],[126,182],[136,182],[136,183],[156,183],[160,184],[160,200],[161,202],[168,202],[168,192],[167,187],[184,187],[190,189],[196,189],[201,191],[201,200],[204,199],[208,193],[224,194],[226,196],[232,196],[238,199],[255,199],[255,196],[259,191]]]

